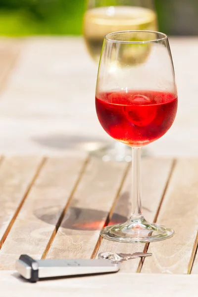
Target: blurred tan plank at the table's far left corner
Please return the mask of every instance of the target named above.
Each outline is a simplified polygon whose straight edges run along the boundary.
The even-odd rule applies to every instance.
[[[6,87],[22,46],[23,40],[20,39],[0,39],[0,92]]]

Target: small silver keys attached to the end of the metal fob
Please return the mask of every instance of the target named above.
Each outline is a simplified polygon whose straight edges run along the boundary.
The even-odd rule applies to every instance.
[[[129,259],[135,259],[135,258],[143,258],[143,257],[149,257],[152,253],[148,252],[134,252],[133,254],[130,253],[114,253],[114,252],[100,252],[99,253],[99,259],[108,259],[111,260],[114,263],[122,262]]]

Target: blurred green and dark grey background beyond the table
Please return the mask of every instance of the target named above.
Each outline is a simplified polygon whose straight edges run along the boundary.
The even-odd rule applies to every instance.
[[[159,31],[198,34],[198,0],[155,0],[155,7]],[[0,0],[0,35],[80,35],[85,8],[86,0]]]

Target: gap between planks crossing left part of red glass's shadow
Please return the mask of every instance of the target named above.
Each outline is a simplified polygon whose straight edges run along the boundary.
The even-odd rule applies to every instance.
[[[55,236],[56,236],[56,233],[58,232],[58,229],[59,229],[59,227],[60,227],[60,225],[61,225],[61,223],[62,223],[62,220],[63,220],[63,218],[64,218],[64,215],[65,215],[65,213],[66,213],[66,211],[67,211],[67,209],[68,209],[68,207],[69,207],[69,205],[70,205],[70,203],[71,203],[72,197],[73,197],[73,195],[74,195],[74,193],[75,193],[75,191],[76,191],[76,189],[77,189],[77,187],[78,187],[79,182],[81,181],[81,179],[82,179],[82,177],[83,177],[83,174],[84,174],[84,172],[85,172],[85,169],[86,169],[87,164],[89,163],[90,159],[91,159],[90,156],[88,156],[88,157],[85,159],[85,162],[84,162],[84,164],[83,164],[83,166],[82,166],[82,168],[81,168],[79,177],[78,177],[76,183],[74,184],[74,187],[73,187],[73,189],[72,189],[72,191],[71,191],[71,194],[70,194],[70,196],[69,196],[69,198],[68,198],[68,200],[67,200],[67,203],[66,203],[65,207],[63,208],[63,211],[62,211],[61,214],[60,214],[60,217],[59,217],[59,219],[58,219],[58,221],[57,221],[57,224],[55,225],[55,228],[54,228],[54,230],[53,230],[53,232],[52,232],[52,234],[51,234],[51,236],[50,236],[50,238],[49,238],[49,242],[48,242],[48,244],[47,244],[47,246],[46,246],[46,248],[45,248],[45,250],[44,250],[44,252],[43,252],[43,254],[42,254],[42,257],[41,257],[42,259],[45,259],[46,256],[48,255],[49,249],[50,249],[50,247],[51,247],[51,245],[52,245],[52,243],[53,243],[53,240],[54,240],[54,238],[55,238]]]

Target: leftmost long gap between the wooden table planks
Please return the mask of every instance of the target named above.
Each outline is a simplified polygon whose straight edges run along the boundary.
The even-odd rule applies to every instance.
[[[2,163],[2,160],[3,160],[3,157],[0,158],[0,164]],[[2,238],[1,238],[1,240],[0,240],[0,249],[1,249],[1,247],[3,246],[5,240],[6,240],[8,234],[9,234],[9,232],[10,232],[10,230],[11,230],[11,228],[12,228],[12,226],[13,226],[13,224],[14,224],[16,218],[17,218],[17,215],[19,214],[19,211],[20,211],[21,207],[23,206],[23,204],[24,204],[24,202],[25,202],[25,199],[27,198],[27,196],[28,196],[28,194],[29,194],[29,192],[30,192],[32,186],[34,185],[34,183],[35,183],[37,177],[39,176],[39,173],[41,172],[41,169],[43,168],[43,166],[44,166],[46,160],[47,160],[46,157],[44,157],[44,158],[41,160],[41,162],[40,162],[40,164],[39,164],[39,166],[38,166],[38,168],[37,168],[37,170],[36,170],[36,172],[35,172],[35,174],[34,174],[32,180],[31,180],[31,182],[30,182],[30,184],[29,184],[29,186],[28,186],[26,192],[24,193],[23,198],[21,199],[21,202],[19,203],[19,205],[18,205],[18,207],[17,207],[17,209],[16,209],[16,211],[15,211],[15,213],[14,213],[14,215],[13,215],[11,221],[9,222],[9,224],[8,224],[8,226],[7,226],[5,232],[4,232],[4,234],[3,234],[3,236],[2,236]]]

